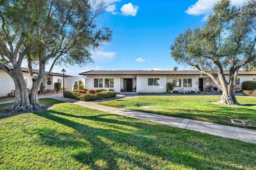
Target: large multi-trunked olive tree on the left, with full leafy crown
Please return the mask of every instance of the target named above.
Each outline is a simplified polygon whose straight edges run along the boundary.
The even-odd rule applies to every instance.
[[[20,2],[5,3],[6,8],[12,9],[14,5],[25,11],[27,19],[18,16],[16,20],[13,20],[10,15],[9,18],[12,20],[10,23],[14,25],[12,26],[5,21],[6,16],[10,14],[5,9],[3,10],[5,15],[1,17],[3,26],[0,35],[0,42],[2,42],[0,51],[4,51],[4,49],[7,51],[7,53],[1,53],[1,56],[6,63],[11,63],[14,69],[7,69],[2,63],[0,63],[0,68],[11,76],[10,73],[14,72],[15,68],[20,70],[19,73],[14,73],[16,76],[12,76],[16,88],[16,98],[14,106],[8,109],[9,111],[42,109],[43,106],[38,102],[38,91],[44,76],[51,72],[54,64],[69,63],[81,66],[92,62],[91,51],[108,43],[112,31],[106,27],[98,29],[96,25],[99,16],[104,12],[103,2],[93,0],[20,0]],[[22,21],[26,25],[24,29],[20,27]],[[16,27],[17,30],[15,30]],[[4,31],[4,28],[10,31]],[[9,42],[4,37],[9,37],[9,34],[22,37],[22,41],[15,39],[13,41],[16,43],[17,51],[20,52],[19,55],[8,57],[11,48],[8,48]],[[29,94],[27,91],[25,92],[25,81],[20,83],[17,81],[23,79],[20,66],[24,57],[28,61],[30,78],[33,82]],[[36,75],[32,72],[33,63],[39,67],[39,73]],[[51,67],[50,70],[47,70],[48,73],[45,73],[47,63],[51,63]],[[19,89],[19,86],[22,86],[22,89]],[[19,96],[20,92],[24,95]]]

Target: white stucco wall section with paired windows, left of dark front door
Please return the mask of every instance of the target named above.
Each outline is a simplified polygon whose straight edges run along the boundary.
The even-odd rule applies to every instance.
[[[94,78],[103,78],[103,88],[94,88]],[[114,88],[105,88],[104,78],[114,78]],[[86,76],[86,89],[114,89],[115,92],[120,92],[121,90],[121,81],[120,76],[118,75],[88,75]]]

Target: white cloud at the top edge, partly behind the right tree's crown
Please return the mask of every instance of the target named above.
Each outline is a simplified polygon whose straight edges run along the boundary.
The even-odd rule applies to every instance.
[[[201,14],[210,14],[214,4],[218,0],[198,0],[194,5],[188,7],[185,12],[189,15],[199,16]],[[248,0],[232,0],[232,5],[242,6]],[[205,16],[206,17],[206,16]],[[206,19],[204,17],[204,19]]]

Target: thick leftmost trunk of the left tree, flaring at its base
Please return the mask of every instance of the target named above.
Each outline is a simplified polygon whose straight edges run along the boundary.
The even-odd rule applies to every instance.
[[[3,115],[12,115],[17,112],[31,112],[33,107],[30,104],[28,90],[24,80],[23,72],[20,67],[14,66],[10,74],[15,84],[15,101],[10,107],[2,111]]]

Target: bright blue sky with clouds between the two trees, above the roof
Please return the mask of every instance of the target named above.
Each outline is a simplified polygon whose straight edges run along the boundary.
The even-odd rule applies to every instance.
[[[187,28],[200,27],[217,0],[105,0],[100,19],[113,31],[112,43],[92,55],[87,66],[54,66],[52,72],[78,76],[88,70],[191,70],[175,63],[170,45]],[[246,0],[232,0],[242,5]],[[50,66],[46,66],[46,71]]]

